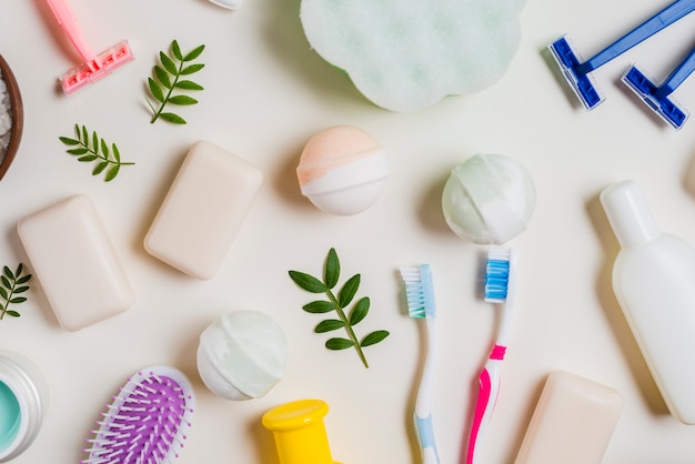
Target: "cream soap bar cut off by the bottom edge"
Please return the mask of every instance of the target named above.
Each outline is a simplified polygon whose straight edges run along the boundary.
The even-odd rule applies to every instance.
[[[548,375],[515,464],[600,464],[623,397],[567,372]]]

